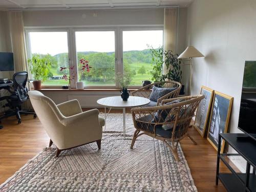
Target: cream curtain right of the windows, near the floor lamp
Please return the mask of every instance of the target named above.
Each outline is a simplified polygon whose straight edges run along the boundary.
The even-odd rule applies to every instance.
[[[164,8],[163,49],[173,53],[177,53],[178,11],[178,8]],[[166,71],[164,65],[163,73],[166,74]]]

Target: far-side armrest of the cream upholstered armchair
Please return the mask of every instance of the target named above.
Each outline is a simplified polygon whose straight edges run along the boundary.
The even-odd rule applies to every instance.
[[[81,106],[76,99],[57,104],[57,107],[60,113],[66,117],[82,113]]]

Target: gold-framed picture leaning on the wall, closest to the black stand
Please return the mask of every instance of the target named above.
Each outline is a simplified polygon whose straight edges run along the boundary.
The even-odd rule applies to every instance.
[[[232,104],[233,97],[218,91],[214,92],[207,140],[216,151],[218,151],[219,133],[227,133]],[[225,141],[223,140],[221,143],[221,153],[224,151],[224,145]]]

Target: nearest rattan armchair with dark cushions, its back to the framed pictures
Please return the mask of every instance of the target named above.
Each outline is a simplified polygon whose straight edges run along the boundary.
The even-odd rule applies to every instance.
[[[172,150],[175,160],[179,161],[177,152],[179,141],[184,137],[189,137],[195,143],[187,131],[195,110],[203,98],[204,95],[194,95],[165,99],[161,101],[159,106],[132,109],[136,131],[131,148],[133,148],[136,139],[145,134],[167,144]],[[168,130],[165,130],[164,127]]]

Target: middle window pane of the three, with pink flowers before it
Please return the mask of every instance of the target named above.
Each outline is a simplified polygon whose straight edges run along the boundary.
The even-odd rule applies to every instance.
[[[77,31],[78,79],[87,86],[115,85],[115,32]],[[90,72],[82,70],[80,59],[89,61]]]

